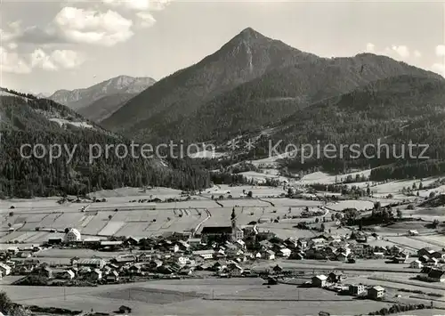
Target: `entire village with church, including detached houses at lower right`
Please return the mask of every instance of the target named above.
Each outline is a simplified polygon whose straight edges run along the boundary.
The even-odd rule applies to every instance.
[[[63,238],[48,239],[42,245],[8,247],[0,256],[0,271],[4,277],[20,276],[12,283],[17,286],[100,287],[155,279],[258,277],[272,286],[302,276],[301,271],[285,269],[281,263],[316,260],[353,267],[358,261],[381,260],[390,271],[394,263],[405,264],[407,270],[417,273],[417,280],[445,282],[445,249],[422,248],[410,253],[395,245],[373,247],[367,240],[375,237],[363,231],[352,231],[349,236],[323,232],[313,238],[279,239],[270,231],[258,231],[255,224],[241,229],[236,218],[233,207],[231,226],[205,226],[198,236],[174,232],[144,239],[82,239],[77,229],[70,228]],[[417,231],[407,234],[416,235]],[[74,256],[69,264],[42,263],[36,254],[47,249],[91,249],[98,255]],[[102,251],[120,255],[104,259]],[[263,263],[264,269],[258,263]],[[372,300],[387,296],[382,286],[348,282],[347,274],[339,269],[326,274],[304,271],[303,275],[304,287]]]

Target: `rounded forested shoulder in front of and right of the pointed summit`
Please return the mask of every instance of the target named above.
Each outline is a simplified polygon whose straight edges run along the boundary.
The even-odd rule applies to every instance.
[[[267,128],[317,101],[400,75],[440,79],[432,72],[374,54],[320,59],[271,70],[206,102],[185,119],[168,126],[164,120],[158,120],[150,124],[150,128],[161,138],[170,136],[191,142],[218,143]],[[140,128],[143,124],[134,126],[131,131],[136,134]]]

